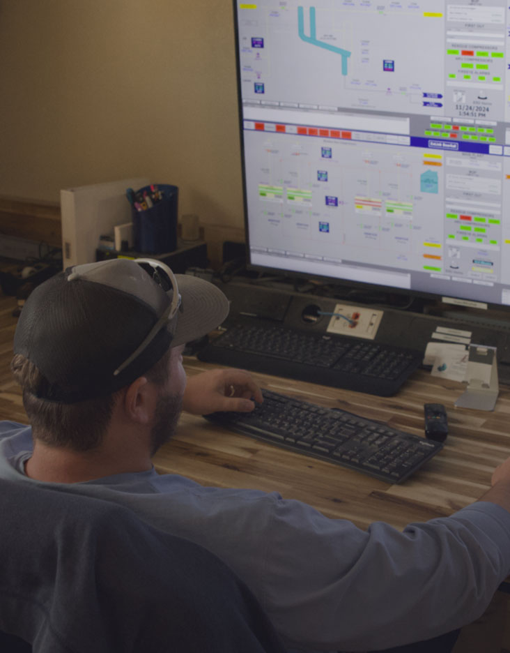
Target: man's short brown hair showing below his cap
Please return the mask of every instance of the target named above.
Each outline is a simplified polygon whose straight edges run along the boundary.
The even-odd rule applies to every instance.
[[[169,357],[170,349],[143,376],[162,386],[168,380]],[[44,394],[50,384],[29,359],[15,354],[10,369],[22,387],[23,405],[34,439],[73,451],[91,451],[101,444],[114,405],[123,389],[77,403],[49,401],[38,395]]]

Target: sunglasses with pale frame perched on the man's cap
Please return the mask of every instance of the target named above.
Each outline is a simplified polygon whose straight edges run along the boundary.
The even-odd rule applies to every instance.
[[[134,361],[134,359],[136,359],[137,356],[139,356],[139,354],[141,354],[141,352],[144,351],[144,349],[146,349],[146,347],[153,341],[157,333],[160,332],[160,330],[162,329],[162,327],[164,327],[165,324],[167,325],[167,330],[173,336],[173,333],[175,333],[177,328],[179,309],[182,310],[182,299],[179,294],[177,280],[173,275],[171,269],[164,263],[160,261],[156,261],[154,259],[139,258],[139,259],[134,259],[134,262],[138,263],[140,267],[142,267],[148,274],[150,274],[153,281],[157,283],[157,285],[160,285],[160,287],[162,287],[162,290],[164,290],[164,292],[166,292],[169,297],[170,297],[170,290],[172,291],[171,303],[168,306],[168,308],[164,310],[164,312],[157,320],[153,328],[150,329],[149,333],[147,334],[146,338],[141,343],[141,345],[139,345],[139,347],[137,347],[137,349],[134,350],[131,356],[128,359],[126,359],[122,363],[122,365],[118,366],[118,368],[114,372],[114,376],[118,375],[119,373],[122,372],[123,369],[127,368],[127,366],[130,363],[132,363],[132,361]],[[150,270],[148,271],[144,266],[149,266]]]

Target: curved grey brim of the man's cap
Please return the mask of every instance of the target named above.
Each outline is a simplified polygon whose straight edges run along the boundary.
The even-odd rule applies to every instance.
[[[214,331],[229,315],[229,300],[218,287],[190,274],[176,274],[182,298],[172,347],[185,345]]]

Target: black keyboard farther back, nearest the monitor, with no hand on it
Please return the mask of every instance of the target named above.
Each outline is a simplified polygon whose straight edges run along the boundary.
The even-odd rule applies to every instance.
[[[422,363],[423,352],[349,336],[235,322],[198,357],[256,372],[389,397]]]

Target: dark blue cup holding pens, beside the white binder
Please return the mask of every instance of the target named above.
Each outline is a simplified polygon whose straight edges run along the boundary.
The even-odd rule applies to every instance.
[[[177,216],[178,196],[177,186],[168,183],[158,183],[162,200],[146,211],[131,208],[133,220],[134,249],[142,254],[164,254],[177,249]],[[140,188],[139,193],[150,186]]]

